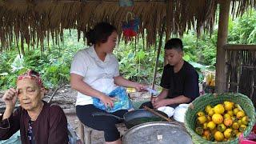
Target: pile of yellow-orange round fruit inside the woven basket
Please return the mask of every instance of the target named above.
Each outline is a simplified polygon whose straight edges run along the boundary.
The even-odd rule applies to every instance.
[[[249,121],[241,106],[225,101],[197,113],[195,132],[208,141],[226,142],[239,137]]]

